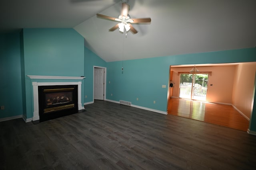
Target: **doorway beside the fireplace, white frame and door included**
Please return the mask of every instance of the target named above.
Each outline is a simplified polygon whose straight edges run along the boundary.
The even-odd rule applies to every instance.
[[[93,99],[106,100],[106,67],[94,66]]]

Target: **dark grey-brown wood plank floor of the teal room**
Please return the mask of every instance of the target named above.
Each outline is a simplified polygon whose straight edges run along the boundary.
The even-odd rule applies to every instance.
[[[256,136],[106,101],[38,124],[0,122],[0,169],[256,167]]]

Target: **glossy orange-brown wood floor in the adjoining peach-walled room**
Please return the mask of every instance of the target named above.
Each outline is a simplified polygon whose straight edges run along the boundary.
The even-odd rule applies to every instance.
[[[247,131],[249,121],[234,107],[181,98],[170,98],[168,114]]]

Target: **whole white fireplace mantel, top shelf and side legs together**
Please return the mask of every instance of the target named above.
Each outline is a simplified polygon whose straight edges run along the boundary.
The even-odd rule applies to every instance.
[[[28,76],[31,79],[65,79],[65,80],[82,80],[85,77],[66,77],[66,76]],[[32,120],[39,120],[39,104],[38,104],[38,86],[54,86],[54,85],[78,85],[78,110],[84,109],[82,106],[81,92],[82,82],[32,82],[33,86],[33,101],[34,101],[34,112]]]

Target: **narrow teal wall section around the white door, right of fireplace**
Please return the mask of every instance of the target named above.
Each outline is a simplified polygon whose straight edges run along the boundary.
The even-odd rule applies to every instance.
[[[106,62],[98,55],[84,47],[84,102],[93,102],[93,66],[106,67]],[[108,71],[107,71],[108,72]],[[87,96],[87,98],[85,98]]]

